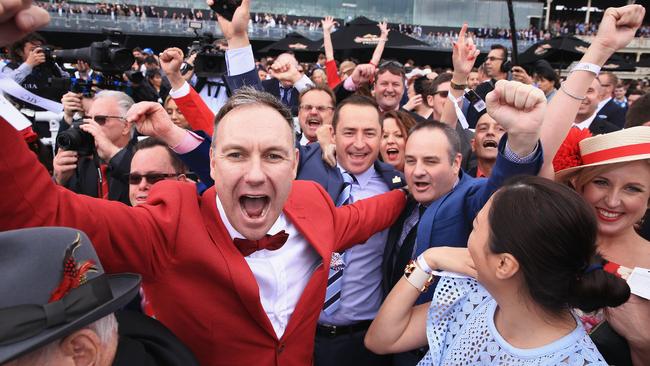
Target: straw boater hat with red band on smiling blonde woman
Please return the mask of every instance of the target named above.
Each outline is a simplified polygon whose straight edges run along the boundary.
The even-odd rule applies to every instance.
[[[586,167],[650,159],[650,127],[637,126],[580,141],[582,164],[555,173],[560,181]]]

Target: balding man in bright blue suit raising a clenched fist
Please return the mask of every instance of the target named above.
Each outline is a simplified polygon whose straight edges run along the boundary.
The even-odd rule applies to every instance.
[[[457,132],[438,122],[418,124],[406,142],[404,173],[412,198],[391,227],[383,258],[383,289],[390,289],[410,260],[433,246],[467,245],[478,211],[507,178],[537,174],[542,166],[539,132],[546,98],[516,81],[498,81],[486,98],[488,113],[506,130],[489,178],[460,168]],[[430,301],[434,291],[418,303]],[[418,350],[394,355],[394,365],[415,365]]]

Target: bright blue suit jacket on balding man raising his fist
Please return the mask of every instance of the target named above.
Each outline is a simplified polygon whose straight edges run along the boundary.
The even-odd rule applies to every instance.
[[[535,153],[534,160],[526,164],[511,162],[503,156],[508,135],[505,134],[499,142],[499,155],[489,178],[472,178],[467,173],[460,171],[459,182],[450,192],[429,204],[418,224],[416,245],[426,249],[435,246],[467,246],[467,239],[472,231],[472,221],[483,208],[483,205],[499,187],[510,177],[520,174],[535,175],[539,172],[543,162],[543,151],[540,148]],[[408,206],[414,207],[414,206]],[[414,208],[411,208],[412,210]],[[402,225],[394,224],[389,232],[386,243],[386,252],[395,253],[397,239],[402,231],[404,219],[410,213],[403,213],[398,219]],[[403,219],[404,218],[404,219]],[[394,232],[393,232],[394,231]],[[392,238],[392,241],[391,241]],[[392,248],[389,248],[392,247]],[[394,254],[393,254],[394,255]],[[417,253],[416,253],[417,255]],[[388,264],[392,258],[384,258],[384,277],[388,277],[391,269]],[[399,268],[393,269],[398,271]],[[387,286],[388,285],[388,286]],[[384,284],[384,289],[389,290],[392,283]],[[433,289],[424,293],[418,303],[430,301]]]

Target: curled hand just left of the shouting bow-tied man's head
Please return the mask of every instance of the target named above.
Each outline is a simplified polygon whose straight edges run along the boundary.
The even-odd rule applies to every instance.
[[[141,134],[157,137],[168,146],[180,144],[187,133],[176,126],[163,106],[156,102],[134,104],[127,112],[126,120],[135,123],[135,127]]]

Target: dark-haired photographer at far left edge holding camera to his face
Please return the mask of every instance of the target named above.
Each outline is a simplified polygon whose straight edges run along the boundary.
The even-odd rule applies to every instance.
[[[38,33],[30,33],[10,47],[11,62],[3,69],[3,74],[12,78],[26,90],[50,100],[61,99],[62,93],[48,87],[51,77],[67,77],[49,58],[50,50],[44,47],[45,39]],[[42,110],[39,106],[19,102],[25,107]]]

